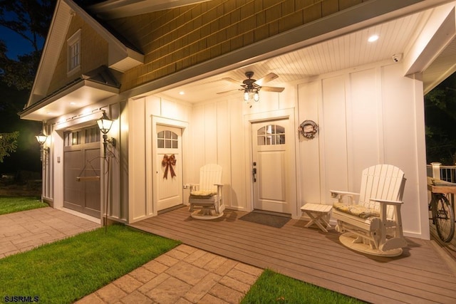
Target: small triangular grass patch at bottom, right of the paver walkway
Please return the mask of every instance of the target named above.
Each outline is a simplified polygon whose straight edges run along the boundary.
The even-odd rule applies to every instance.
[[[332,290],[295,280],[266,269],[242,300],[247,303],[364,303]]]

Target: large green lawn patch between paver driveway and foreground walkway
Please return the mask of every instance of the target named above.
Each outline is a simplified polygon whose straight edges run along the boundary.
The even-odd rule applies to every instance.
[[[179,244],[122,225],[78,234],[0,259],[0,302],[9,296],[72,303]],[[9,298],[11,300],[11,298]]]

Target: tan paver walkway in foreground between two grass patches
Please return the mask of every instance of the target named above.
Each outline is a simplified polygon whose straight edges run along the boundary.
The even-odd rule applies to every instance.
[[[261,268],[180,245],[79,300],[104,303],[239,303]]]

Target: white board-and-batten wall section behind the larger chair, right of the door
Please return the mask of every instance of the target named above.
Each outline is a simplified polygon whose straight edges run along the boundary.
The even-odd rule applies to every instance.
[[[402,70],[400,64],[378,65],[298,85],[299,121],[315,120],[320,127],[316,139],[299,140],[300,196],[305,203],[331,204],[329,190],[359,192],[363,169],[394,164],[407,179],[405,235],[425,239],[427,197],[419,169],[425,164],[424,120],[415,119],[417,112],[423,117],[423,95],[419,81]]]

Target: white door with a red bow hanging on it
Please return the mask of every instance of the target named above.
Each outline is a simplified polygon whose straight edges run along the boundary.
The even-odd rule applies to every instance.
[[[157,125],[157,210],[182,204],[182,130]]]

